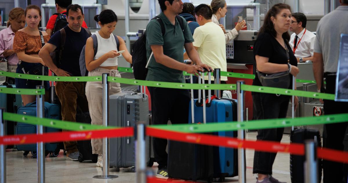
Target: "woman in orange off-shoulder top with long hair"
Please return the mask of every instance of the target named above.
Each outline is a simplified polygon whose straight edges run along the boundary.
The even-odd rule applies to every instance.
[[[46,32],[41,32],[38,29],[41,21],[41,10],[38,6],[29,5],[25,9],[25,21],[27,27],[18,30],[14,37],[13,49],[17,53],[19,62],[16,73],[48,75],[48,68],[39,57],[41,47],[49,40],[49,35]],[[37,85],[41,85],[41,81],[30,79],[16,78],[16,87],[25,89],[35,89]],[[49,88],[49,82],[44,82],[46,90]],[[33,95],[22,95],[23,105],[35,101]]]

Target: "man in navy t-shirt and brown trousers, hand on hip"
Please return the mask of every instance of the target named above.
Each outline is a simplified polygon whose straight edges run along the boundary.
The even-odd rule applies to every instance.
[[[61,32],[57,31],[47,44],[41,48],[39,56],[57,76],[81,76],[79,58],[89,33],[81,28],[84,13],[80,5],[69,5],[66,9],[68,25],[64,27],[65,44],[59,68],[53,63],[50,53],[61,47]],[[76,121],[77,105],[82,112],[88,112],[88,101],[85,95],[86,82],[57,82],[55,89],[62,104],[62,120]],[[64,131],[64,130],[63,130]],[[77,142],[64,142],[66,159],[76,161],[79,157]]]

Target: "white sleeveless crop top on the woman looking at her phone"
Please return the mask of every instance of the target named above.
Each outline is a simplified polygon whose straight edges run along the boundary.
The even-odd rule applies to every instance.
[[[99,34],[99,31],[96,32],[95,35],[97,36],[98,48],[97,48],[97,54],[94,56],[94,60],[97,60],[98,58],[103,56],[105,53],[108,53],[112,50],[117,50],[115,36],[112,33],[108,39],[102,38]],[[106,59],[100,66],[102,67],[117,66],[118,65],[117,59],[118,59],[118,56],[116,56],[115,58]]]

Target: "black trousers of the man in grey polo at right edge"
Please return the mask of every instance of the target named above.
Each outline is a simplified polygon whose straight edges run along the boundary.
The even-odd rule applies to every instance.
[[[336,76],[326,76],[325,93],[335,93]],[[324,100],[325,114],[348,113],[348,102],[335,102],[333,100]],[[348,121],[348,119],[347,119]],[[347,129],[348,122],[325,124],[326,138],[324,136],[323,146],[335,150],[343,151],[343,138]],[[323,161],[324,183],[343,182],[343,163],[334,161]],[[345,181],[347,182],[347,181]]]

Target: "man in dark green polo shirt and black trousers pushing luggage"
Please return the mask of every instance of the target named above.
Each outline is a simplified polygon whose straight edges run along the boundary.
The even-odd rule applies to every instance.
[[[165,34],[162,35],[161,26],[157,20],[151,20],[146,28],[146,49],[149,62],[146,80],[184,83],[182,71],[198,74],[200,71],[212,70],[203,64],[193,47],[193,38],[189,26],[184,18],[182,31],[176,15],[182,12],[181,0],[158,0],[162,13],[161,18]],[[183,63],[183,47],[196,65]],[[149,87],[151,95],[153,124],[188,123],[190,95],[188,90]],[[153,138],[153,152],[158,163],[157,178],[168,178],[166,152],[167,139]]]

